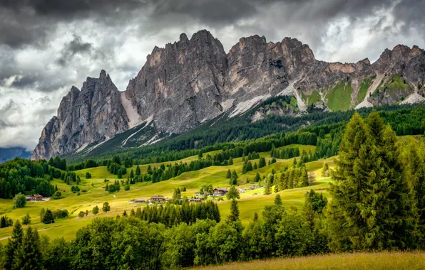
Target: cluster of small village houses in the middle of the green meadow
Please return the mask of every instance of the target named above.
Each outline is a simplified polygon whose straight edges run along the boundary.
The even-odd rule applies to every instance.
[[[237,188],[238,193],[245,193],[247,190],[255,190],[257,188],[261,188],[261,185],[252,185],[249,188]],[[227,193],[229,192],[229,188],[214,188],[213,193],[208,195],[207,197],[213,198],[215,200],[216,198],[221,199],[222,197],[225,197]],[[257,195],[257,193],[254,193],[254,195]],[[153,195],[148,199],[145,198],[138,198],[130,200],[130,203],[147,203],[148,205],[155,205],[158,203],[166,203],[172,199],[165,198],[163,195]],[[203,193],[195,193],[192,198],[188,198],[188,202],[203,202],[206,200]],[[178,201],[183,201],[183,199],[178,199]]]

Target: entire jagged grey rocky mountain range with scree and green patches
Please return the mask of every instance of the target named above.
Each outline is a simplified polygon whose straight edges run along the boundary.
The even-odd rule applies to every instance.
[[[129,130],[121,144],[135,134],[134,146],[154,144],[220,115],[244,114],[278,95],[293,97],[293,102],[260,108],[252,121],[267,114],[306,114],[309,108],[337,111],[424,102],[424,82],[425,51],[416,45],[386,49],[374,63],[327,63],[295,38],[277,43],[264,36],[240,38],[225,53],[208,31],[190,39],[182,33],[179,41],[155,47],[123,92],[104,70],[98,78],[88,77],[81,90],[71,87],[31,159],[93,151]]]

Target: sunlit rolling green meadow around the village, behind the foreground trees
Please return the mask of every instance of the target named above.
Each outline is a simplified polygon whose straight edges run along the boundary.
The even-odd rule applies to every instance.
[[[316,146],[303,146],[292,144],[289,146],[281,147],[278,149],[288,148],[288,147],[298,147],[299,151],[314,151]],[[214,156],[220,151],[213,151],[209,154]],[[205,153],[206,155],[207,153]],[[270,153],[260,153],[260,157],[265,157],[267,162],[271,159]],[[190,162],[193,159],[198,158],[198,156],[190,156],[184,158],[183,162]],[[171,198],[173,196],[173,191],[175,188],[186,188],[186,191],[182,193],[182,196],[187,196],[188,198],[192,197],[194,193],[197,193],[203,184],[211,184],[214,188],[217,187],[230,187],[229,179],[226,178],[227,170],[235,170],[238,174],[239,188],[249,187],[253,185],[252,181],[255,178],[256,173],[260,175],[267,175],[274,169],[275,171],[280,171],[284,166],[292,166],[292,159],[283,160],[278,159],[276,163],[265,166],[255,171],[250,171],[248,173],[242,174],[242,158],[234,158],[234,164],[232,166],[211,166],[208,168],[203,168],[199,171],[191,171],[187,173],[182,173],[175,178],[170,180],[162,181],[159,183],[136,183],[131,185],[130,190],[124,191],[121,190],[118,193],[110,194],[105,191],[104,179],[108,179],[108,183],[113,183],[116,180],[117,176],[108,172],[106,167],[97,167],[97,168],[88,168],[80,171],[76,171],[77,175],[81,178],[81,183],[78,187],[81,189],[81,195],[71,192],[71,186],[66,185],[61,179],[54,179],[52,181],[53,185],[57,185],[58,189],[61,190],[65,198],[61,200],[50,200],[46,202],[28,202],[26,207],[14,209],[12,200],[0,199],[0,212],[2,215],[7,215],[11,217],[12,220],[21,219],[27,213],[31,216],[31,226],[40,230],[41,234],[46,234],[48,237],[65,237],[66,239],[72,239],[75,236],[76,231],[88,225],[91,220],[95,217],[106,217],[106,216],[116,216],[122,215],[124,210],[130,211],[133,207],[143,207],[146,204],[133,204],[129,200],[136,198],[150,198],[152,195],[164,195],[165,197]],[[165,163],[174,163],[165,162]],[[258,160],[252,162],[258,163]],[[316,175],[319,175],[319,170],[322,168],[324,160],[314,161],[307,163],[307,168],[309,171],[315,171]],[[332,166],[332,158],[327,160],[330,166]],[[150,166],[160,166],[162,163],[153,163]],[[148,165],[141,165],[141,170],[145,172],[148,168]],[[133,166],[135,170],[135,166]],[[91,179],[86,179],[86,172],[90,172],[92,175]],[[130,173],[130,169],[128,169]],[[127,175],[123,175],[123,179],[126,179]],[[251,183],[247,183],[247,179]],[[282,196],[283,203],[286,207],[295,206],[299,207],[304,202],[304,193],[307,192],[310,188],[317,190],[323,190],[325,195],[327,194],[326,188],[329,183],[329,178],[322,178],[317,176],[317,181],[312,187],[308,188],[295,188],[292,190],[283,190],[280,192]],[[255,194],[257,193],[257,194]],[[271,205],[275,199],[276,194],[272,195],[262,195],[263,189],[257,188],[255,190],[249,190],[246,193],[241,193],[241,198],[239,200],[240,205],[240,219],[242,223],[247,224],[252,218],[255,212],[261,216],[262,208],[265,205]],[[103,213],[102,211],[98,215],[93,215],[91,210],[95,205],[98,205],[99,208],[102,207],[103,202],[109,202],[111,205],[111,212]],[[225,217],[229,214],[230,204],[229,201],[219,201],[218,202],[222,220],[225,220]],[[66,219],[58,219],[53,225],[45,225],[41,223],[40,220],[40,211],[41,208],[48,208],[51,210],[57,209],[66,209],[70,213],[70,217]],[[90,213],[87,217],[78,217],[80,211],[88,210]],[[26,226],[24,226],[26,227]],[[6,227],[0,229],[0,241],[5,241],[7,237],[11,235],[12,227]]]

